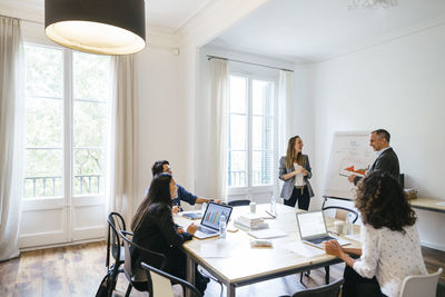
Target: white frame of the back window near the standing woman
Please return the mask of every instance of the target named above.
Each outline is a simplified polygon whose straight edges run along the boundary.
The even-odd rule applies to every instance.
[[[228,199],[230,200],[230,197],[234,196],[244,196],[245,198],[248,198],[250,200],[255,200],[255,195],[257,194],[265,194],[269,191],[274,191],[276,188],[276,185],[278,184],[278,77],[275,75],[270,73],[253,73],[250,71],[244,71],[244,70],[238,70],[238,69],[230,69],[229,70],[229,80],[231,76],[236,77],[243,77],[247,79],[246,83],[246,96],[247,96],[247,102],[246,102],[246,172],[247,172],[247,184],[245,187],[230,187],[227,181],[227,194],[228,194]],[[254,186],[254,177],[253,177],[253,152],[254,152],[254,147],[253,147],[253,120],[254,120],[254,110],[253,110],[253,81],[254,80],[261,80],[261,81],[270,81],[274,83],[273,86],[273,100],[274,100],[274,150],[273,150],[273,175],[271,175],[271,184],[270,185],[264,185],[264,186]],[[229,85],[230,88],[230,85]],[[230,90],[228,91],[228,95],[230,96]],[[229,102],[230,98],[228,98]],[[229,107],[229,105],[228,105]],[[230,110],[227,110],[228,117],[230,116]],[[227,139],[230,138],[230,130],[229,126],[227,129]],[[227,156],[229,154],[229,148],[227,147]],[[227,167],[229,162],[229,158],[227,158]]]

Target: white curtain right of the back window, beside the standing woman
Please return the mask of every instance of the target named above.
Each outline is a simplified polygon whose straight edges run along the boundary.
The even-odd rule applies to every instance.
[[[293,136],[293,86],[294,72],[280,70],[278,82],[278,158],[286,155],[287,142]],[[280,185],[277,185],[275,195],[278,197]]]

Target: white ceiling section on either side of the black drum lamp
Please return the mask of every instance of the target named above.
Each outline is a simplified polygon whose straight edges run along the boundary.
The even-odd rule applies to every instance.
[[[126,1],[126,0],[122,0]],[[165,32],[176,32],[211,0],[146,0],[148,27]],[[28,9],[43,14],[43,0],[0,0],[2,6]]]

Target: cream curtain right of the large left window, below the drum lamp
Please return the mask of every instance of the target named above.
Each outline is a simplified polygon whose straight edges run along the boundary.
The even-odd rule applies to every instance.
[[[108,211],[129,225],[136,191],[137,98],[134,56],[113,56]]]

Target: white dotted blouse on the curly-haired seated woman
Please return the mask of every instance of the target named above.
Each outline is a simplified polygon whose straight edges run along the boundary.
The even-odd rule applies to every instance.
[[[363,225],[362,257],[353,267],[362,277],[376,276],[382,293],[389,297],[399,296],[405,277],[427,274],[416,227],[404,229],[405,234]]]

